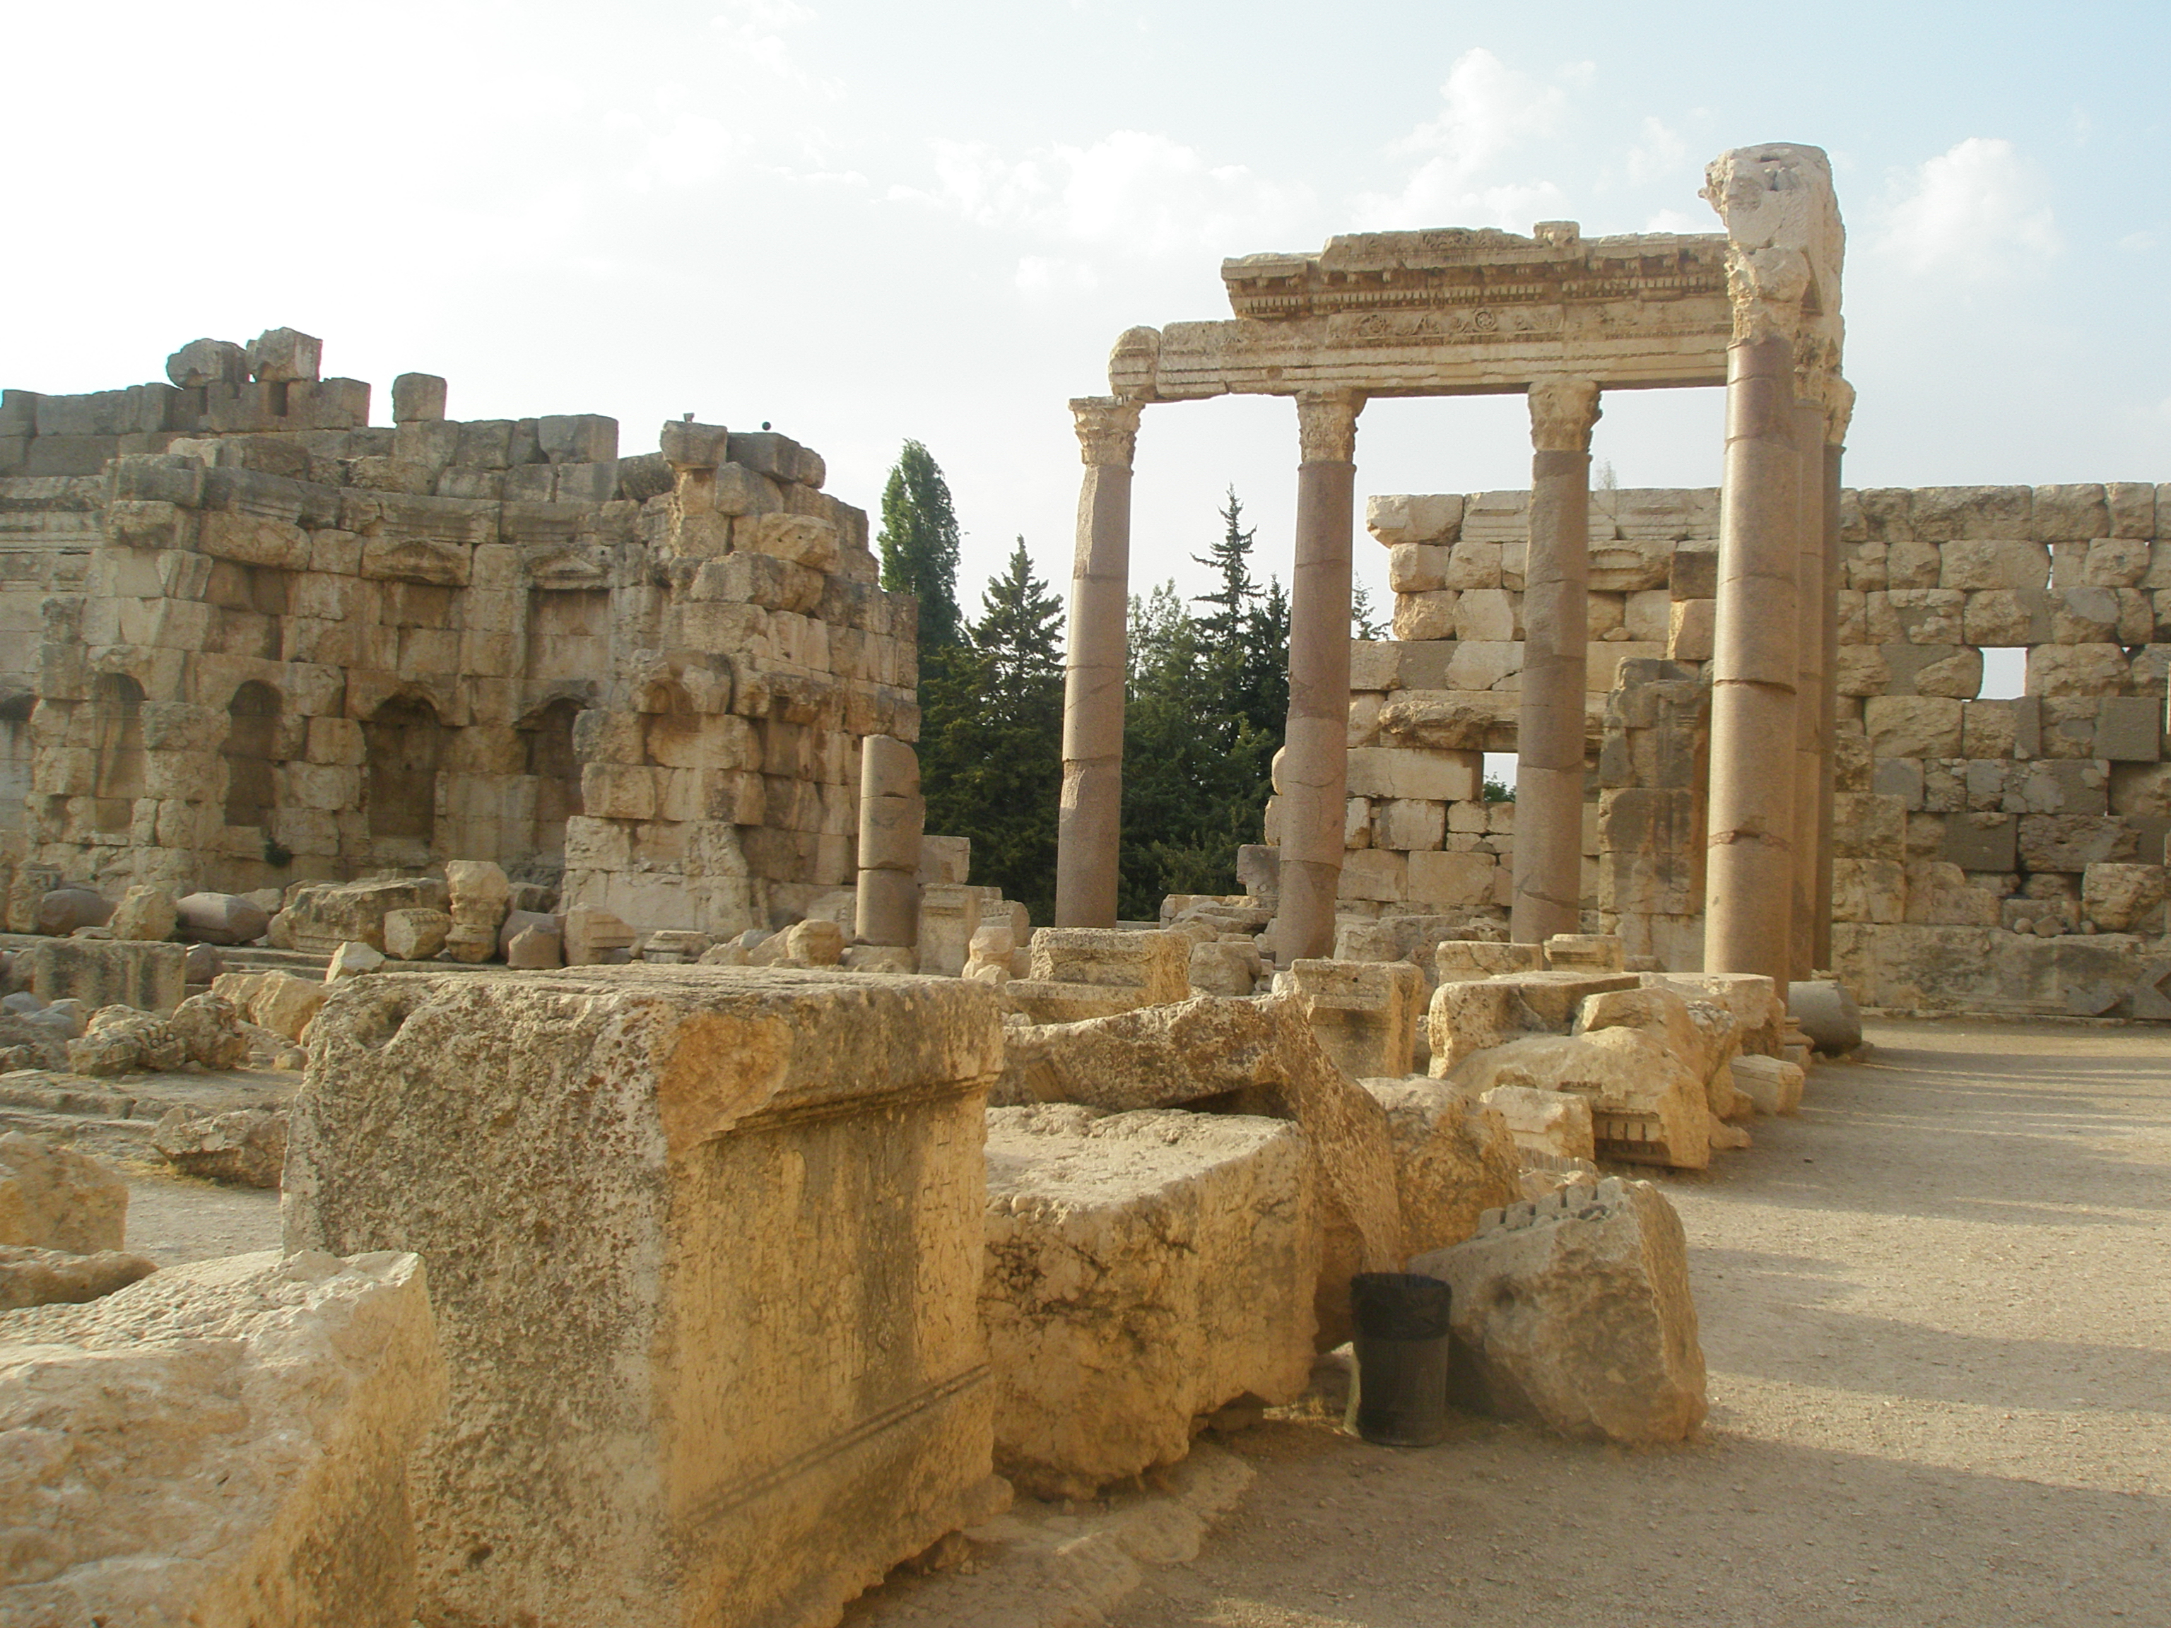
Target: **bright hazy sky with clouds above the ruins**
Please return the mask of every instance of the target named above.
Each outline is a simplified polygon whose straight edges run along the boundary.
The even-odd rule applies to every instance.
[[[454,417],[684,412],[823,451],[871,512],[949,475],[962,599],[1068,584],[1077,441],[1125,328],[1220,260],[1578,219],[1717,230],[1715,154],[1806,141],[1848,219],[1861,486],[2171,480],[2171,7],[0,0],[0,384],[163,376],[276,326]],[[1148,408],[1133,586],[1233,488],[1287,573],[1294,408]],[[1715,484],[1719,393],[1604,399],[1622,486]],[[1368,493],[1528,484],[1515,397],[1376,402]],[[1359,536],[1385,603],[1385,551]]]

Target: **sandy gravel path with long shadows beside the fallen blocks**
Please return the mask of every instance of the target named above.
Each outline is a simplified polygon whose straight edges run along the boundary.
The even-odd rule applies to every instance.
[[[1667,1179],[1698,1441],[1235,1439],[1257,1483],[1118,1628],[2171,1624],[2171,1035],[1874,1025]]]

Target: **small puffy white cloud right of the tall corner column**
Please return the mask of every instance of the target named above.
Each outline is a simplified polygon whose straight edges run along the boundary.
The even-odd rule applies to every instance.
[[[1967,137],[1904,182],[1880,247],[1908,271],[1984,280],[2026,271],[2065,245],[2034,165],[2010,141]]]

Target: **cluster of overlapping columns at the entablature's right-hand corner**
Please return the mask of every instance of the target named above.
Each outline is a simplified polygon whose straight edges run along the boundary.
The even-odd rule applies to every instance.
[[[1830,966],[1832,955],[1843,430],[1843,412],[1798,395],[1787,334],[1732,343],[1711,664],[1704,968],[1761,972],[1780,988]]]

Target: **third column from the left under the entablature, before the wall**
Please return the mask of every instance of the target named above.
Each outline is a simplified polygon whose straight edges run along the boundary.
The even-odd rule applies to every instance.
[[[1598,386],[1531,386],[1531,556],[1515,723],[1515,905],[1509,938],[1583,931],[1583,697],[1589,664],[1591,425]]]

